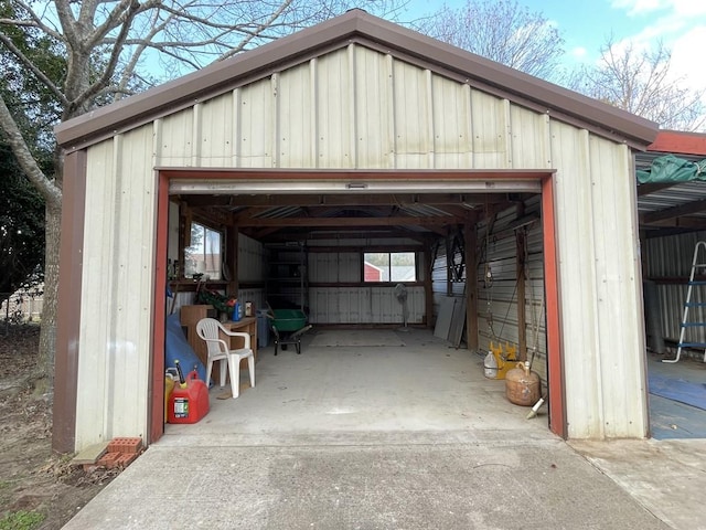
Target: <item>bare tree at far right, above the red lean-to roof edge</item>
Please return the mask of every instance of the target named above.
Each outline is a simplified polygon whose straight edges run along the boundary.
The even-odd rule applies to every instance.
[[[596,66],[584,67],[571,87],[676,130],[704,126],[704,89],[693,89],[671,72],[672,54],[662,42],[654,49],[618,45],[612,38]]]

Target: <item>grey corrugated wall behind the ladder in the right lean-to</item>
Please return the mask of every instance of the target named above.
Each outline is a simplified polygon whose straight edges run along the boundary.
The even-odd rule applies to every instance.
[[[654,237],[644,241],[642,248],[645,264],[645,277],[656,283],[659,311],[665,339],[677,342],[686,301],[686,282],[692,272],[694,248],[698,241],[706,241],[706,232]],[[700,253],[698,263],[706,263],[706,255]],[[698,271],[696,274],[702,275]],[[706,286],[695,286],[692,301],[706,301]],[[689,321],[706,322],[706,308],[689,309]],[[685,340],[688,342],[706,342],[706,329],[693,327],[686,329]],[[674,344],[672,350],[675,352]],[[699,352],[703,358],[703,352]]]

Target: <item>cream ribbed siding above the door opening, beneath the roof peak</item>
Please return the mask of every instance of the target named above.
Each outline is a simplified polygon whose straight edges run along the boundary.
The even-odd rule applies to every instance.
[[[546,168],[547,120],[352,44],[163,118],[158,165]]]

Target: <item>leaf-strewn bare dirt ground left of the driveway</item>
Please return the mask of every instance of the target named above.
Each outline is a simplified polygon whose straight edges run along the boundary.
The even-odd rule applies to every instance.
[[[24,325],[0,335],[0,521],[12,512],[35,511],[44,522],[33,528],[53,530],[119,471],[84,470],[69,464],[71,455],[52,453],[51,399],[33,395],[26,383],[36,365],[39,332],[39,326]]]

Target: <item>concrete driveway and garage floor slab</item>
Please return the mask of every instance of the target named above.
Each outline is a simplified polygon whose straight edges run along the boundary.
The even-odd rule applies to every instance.
[[[504,381],[483,377],[481,357],[426,330],[405,333],[405,347],[310,340],[300,356],[261,350],[254,389],[237,400],[212,389],[201,422],[167,425],[65,528],[703,524],[684,495],[706,487],[706,474],[687,464],[700,446],[570,446],[548,431],[545,410],[527,420],[528,409],[511,404]],[[648,460],[659,476],[641,467]],[[681,495],[664,502],[650,488]]]

